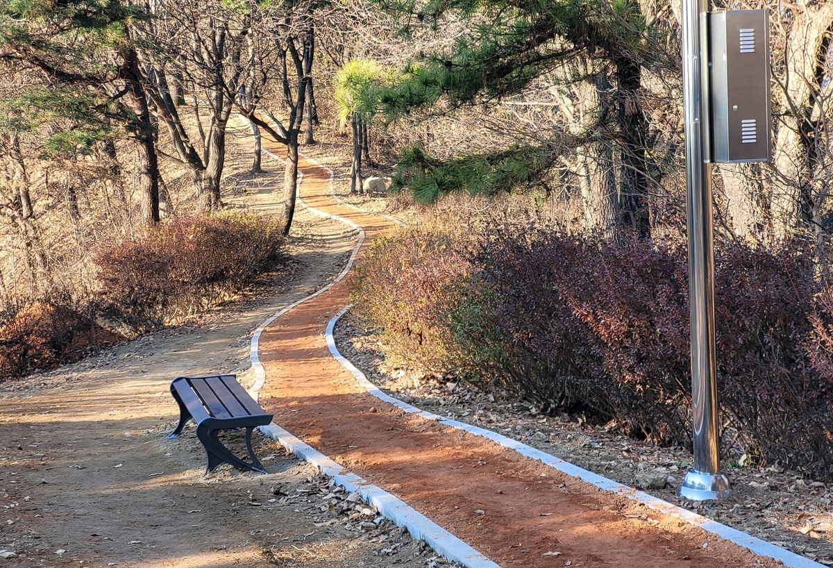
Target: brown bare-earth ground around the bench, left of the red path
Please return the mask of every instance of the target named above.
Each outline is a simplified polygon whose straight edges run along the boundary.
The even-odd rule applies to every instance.
[[[279,164],[264,166],[270,172],[258,182],[279,177]],[[280,184],[266,183],[246,202],[268,210],[280,192]],[[375,526],[357,528],[344,513],[322,511],[330,490],[263,436],[256,451],[266,476],[223,467],[203,477],[206,456],[193,429],[166,439],[178,414],[168,392],[174,376],[231,371],[251,379],[252,331],[342,270],[352,231],[303,211],[297,227],[310,236],[293,238],[295,276],[262,283],[259,297],[0,384],[0,566],[426,565],[431,551],[396,527],[375,534]],[[379,554],[383,546],[397,556]]]

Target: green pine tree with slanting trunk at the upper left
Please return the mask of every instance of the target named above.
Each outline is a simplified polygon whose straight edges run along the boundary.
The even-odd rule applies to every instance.
[[[156,128],[127,27],[144,12],[121,0],[0,0],[0,60],[39,73],[17,107],[32,121],[50,115],[74,127],[47,141],[53,152],[91,152],[97,142],[136,142],[142,218],[159,221]],[[113,128],[116,124],[117,128]]]

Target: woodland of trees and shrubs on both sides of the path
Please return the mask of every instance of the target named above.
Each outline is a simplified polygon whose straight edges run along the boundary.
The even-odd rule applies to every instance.
[[[714,6],[739,7],[770,16],[775,157],[714,167],[724,457],[831,479],[833,4]],[[352,191],[376,167],[389,207],[420,211],[352,283],[392,361],[689,445],[679,10],[2,0],[0,373],[182,321],[285,260],[324,128]],[[262,133],[287,147],[279,217],[223,207],[235,125],[253,175]]]

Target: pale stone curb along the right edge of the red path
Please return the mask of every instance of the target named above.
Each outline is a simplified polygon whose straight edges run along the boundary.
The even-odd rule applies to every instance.
[[[327,325],[327,346],[330,348],[332,356],[334,356],[337,361],[340,361],[342,365],[347,367],[347,370],[352,372],[359,384],[367,389],[367,391],[373,396],[377,396],[377,398],[380,398],[383,401],[390,402],[392,405],[398,406],[403,411],[416,413],[417,415],[427,418],[428,420],[435,420],[440,424],[459,428],[460,430],[471,434],[488,438],[491,441],[497,442],[501,446],[517,451],[521,454],[521,456],[527,456],[534,460],[541,461],[547,466],[551,466],[562,473],[566,473],[568,476],[577,477],[578,479],[581,479],[581,481],[591,483],[600,489],[612,491],[618,495],[642,503],[655,511],[665,513],[666,515],[676,516],[682,521],[700,526],[703,530],[711,532],[713,535],[720,536],[721,538],[726,539],[726,541],[731,541],[736,545],[743,546],[758,556],[770,556],[771,558],[775,558],[776,560],[781,561],[784,566],[791,566],[791,568],[824,568],[823,565],[818,562],[811,561],[804,556],[799,556],[794,552],[786,551],[780,546],[772,545],[769,542],[761,541],[761,539],[749,536],[745,532],[731,528],[731,526],[723,525],[717,521],[711,521],[711,519],[707,519],[705,516],[697,515],[691,511],[686,511],[686,509],[676,505],[671,505],[671,503],[667,501],[662,501],[655,496],[648,495],[642,491],[637,491],[633,487],[622,485],[617,481],[612,481],[606,477],[593,473],[592,471],[587,471],[579,466],[574,466],[568,461],[561,460],[561,458],[556,456],[551,456],[544,451],[536,450],[536,448],[527,446],[520,441],[513,440],[491,430],[486,430],[486,428],[471,426],[471,424],[466,424],[465,422],[451,420],[451,418],[444,418],[431,412],[422,411],[416,406],[407,404],[407,402],[388,396],[371,381],[368,381],[367,377],[364,376],[364,373],[359,371],[356,366],[353,366],[350,361],[347,361],[347,359],[345,359],[337,349],[336,342],[332,336],[332,331],[336,326],[336,322],[345,313],[347,313],[348,309],[349,306],[342,309],[342,311],[339,311]]]

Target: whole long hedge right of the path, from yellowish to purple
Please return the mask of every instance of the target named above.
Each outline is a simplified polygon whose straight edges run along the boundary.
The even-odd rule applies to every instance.
[[[380,243],[353,282],[357,310],[384,328],[394,362],[497,382],[543,411],[584,411],[631,436],[691,445],[680,234],[612,243],[485,227],[472,238],[460,227],[476,225]],[[830,479],[833,294],[800,252],[717,242],[724,447]]]

